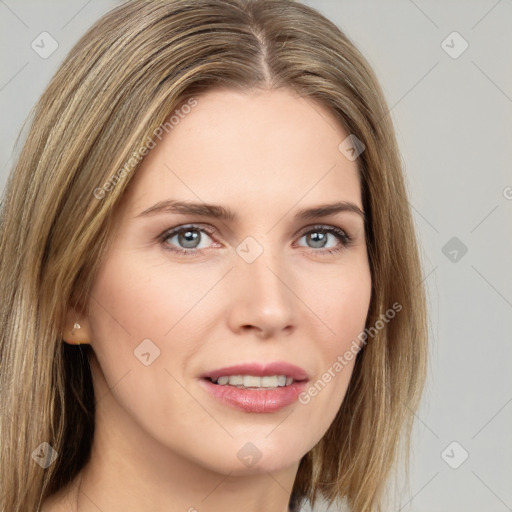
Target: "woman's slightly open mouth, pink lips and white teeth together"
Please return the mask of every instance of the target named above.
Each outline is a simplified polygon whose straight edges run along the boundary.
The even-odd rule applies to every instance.
[[[204,388],[220,402],[257,413],[296,402],[308,380],[304,369],[283,362],[230,366],[201,376]]]

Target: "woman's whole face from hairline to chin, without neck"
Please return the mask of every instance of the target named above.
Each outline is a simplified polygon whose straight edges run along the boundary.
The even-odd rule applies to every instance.
[[[333,421],[355,362],[339,357],[365,327],[357,160],[332,114],[291,90],[196,100],[137,170],[94,281],[93,377],[111,388],[97,428],[134,453],[276,471]],[[333,204],[351,206],[313,211]]]

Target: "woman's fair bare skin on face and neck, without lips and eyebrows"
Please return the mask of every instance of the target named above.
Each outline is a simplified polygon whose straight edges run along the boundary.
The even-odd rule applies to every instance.
[[[77,312],[74,335],[68,314],[66,339],[94,349],[101,400],[90,463],[42,512],[286,512],[301,457],[343,401],[355,359],[307,404],[272,413],[221,403],[200,377],[286,361],[314,384],[364,329],[371,277],[363,218],[348,210],[295,218],[341,201],[363,210],[356,162],[338,150],[348,133],[289,89],[196,99],[125,192],[90,314]],[[222,205],[238,219],[140,215],[171,198]],[[179,226],[196,233],[197,248],[161,236]],[[352,241],[345,246],[319,226]],[[251,263],[237,252],[247,237],[262,249]],[[241,247],[255,254],[258,245]],[[148,366],[134,355],[146,339],[160,350]],[[247,443],[261,457],[252,466],[237,456]]]

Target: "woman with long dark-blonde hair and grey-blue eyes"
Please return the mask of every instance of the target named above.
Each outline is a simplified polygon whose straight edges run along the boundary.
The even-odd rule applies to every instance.
[[[380,510],[426,365],[393,127],[289,0],[128,1],[7,185],[1,510]]]

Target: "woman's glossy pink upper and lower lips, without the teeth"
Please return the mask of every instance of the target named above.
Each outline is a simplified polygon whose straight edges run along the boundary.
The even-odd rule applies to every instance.
[[[289,386],[276,389],[239,389],[229,385],[219,385],[211,382],[210,379],[217,379],[230,375],[255,375],[264,377],[267,375],[286,375],[294,381]],[[306,371],[298,366],[274,362],[269,364],[250,363],[220,368],[204,374],[200,380],[211,395],[220,402],[240,409],[244,412],[271,413],[276,412],[293,404],[306,387],[308,375]]]

